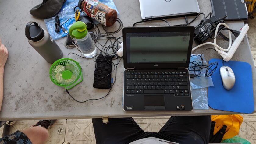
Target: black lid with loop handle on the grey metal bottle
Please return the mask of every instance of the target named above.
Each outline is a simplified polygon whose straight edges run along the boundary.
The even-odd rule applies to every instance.
[[[31,25],[34,23],[34,25]],[[25,29],[27,39],[37,42],[44,37],[44,30],[36,22],[28,22]]]

